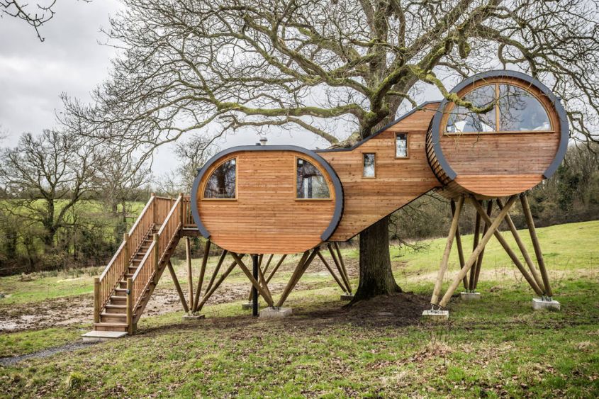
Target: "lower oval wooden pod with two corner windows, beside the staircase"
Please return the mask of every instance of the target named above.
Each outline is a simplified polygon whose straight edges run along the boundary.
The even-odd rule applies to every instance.
[[[342,215],[337,174],[302,147],[252,145],[200,169],[191,212],[201,235],[238,254],[294,254],[330,238]]]

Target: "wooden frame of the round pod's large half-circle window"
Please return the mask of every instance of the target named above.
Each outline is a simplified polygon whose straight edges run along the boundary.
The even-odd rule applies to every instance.
[[[515,86],[519,89],[522,89],[524,91],[527,92],[527,94],[530,94],[530,96],[532,96],[535,100],[537,100],[537,102],[539,104],[541,104],[541,106],[543,107],[545,113],[547,113],[547,118],[549,119],[549,129],[548,130],[499,130],[500,127],[500,110],[499,110],[499,86],[501,84],[505,84],[508,86]],[[547,103],[545,101],[543,101],[542,97],[539,96],[539,94],[534,93],[534,91],[530,90],[530,85],[525,85],[525,84],[520,84],[519,82],[513,82],[513,81],[501,81],[501,80],[496,80],[493,79],[493,82],[483,82],[481,81],[480,84],[472,84],[469,87],[469,90],[466,91],[463,95],[460,96],[460,98],[464,98],[464,96],[466,96],[467,94],[471,93],[474,90],[480,89],[483,86],[493,86],[493,89],[495,91],[495,130],[491,131],[491,132],[448,132],[447,131],[447,123],[449,122],[449,117],[452,115],[452,112],[454,111],[454,108],[456,107],[456,103],[449,103],[449,106],[447,107],[447,109],[444,111],[445,115],[442,119],[442,132],[443,135],[448,135],[448,136],[456,136],[456,135],[504,135],[504,134],[530,134],[530,133],[534,133],[534,134],[546,134],[546,133],[555,133],[556,132],[556,127],[555,127],[555,123],[554,123],[554,118],[553,118],[553,114],[554,112],[552,112],[551,109],[549,109],[547,107]]]

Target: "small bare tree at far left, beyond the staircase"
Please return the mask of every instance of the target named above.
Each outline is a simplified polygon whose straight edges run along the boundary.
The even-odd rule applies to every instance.
[[[42,225],[42,241],[50,251],[57,231],[70,223],[69,211],[93,188],[102,163],[103,155],[72,132],[23,134],[17,147],[0,154],[0,185],[11,200],[0,206],[25,224]]]

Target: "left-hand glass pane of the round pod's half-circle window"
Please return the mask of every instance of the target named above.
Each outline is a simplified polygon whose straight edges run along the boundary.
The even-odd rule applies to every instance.
[[[464,96],[464,100],[472,101],[478,108],[485,108],[495,103],[495,85],[489,84],[474,89]],[[448,133],[493,132],[496,130],[496,108],[486,113],[476,113],[463,106],[455,106],[447,119]]]

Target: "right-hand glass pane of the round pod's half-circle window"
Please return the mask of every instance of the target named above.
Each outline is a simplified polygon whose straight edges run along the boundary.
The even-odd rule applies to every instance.
[[[532,94],[511,84],[499,85],[500,131],[518,132],[550,128],[547,111]]]

